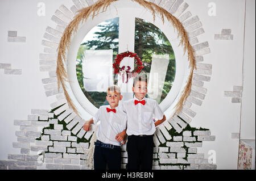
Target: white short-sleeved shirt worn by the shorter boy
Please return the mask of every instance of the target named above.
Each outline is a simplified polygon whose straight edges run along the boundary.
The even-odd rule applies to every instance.
[[[123,112],[120,104],[115,107],[115,113],[113,111],[108,112],[106,108],[112,109],[109,105],[100,106],[96,115],[93,117],[94,124],[100,121],[100,125],[96,131],[97,140],[105,144],[120,146],[121,142],[115,140],[115,136],[126,129],[126,113]]]

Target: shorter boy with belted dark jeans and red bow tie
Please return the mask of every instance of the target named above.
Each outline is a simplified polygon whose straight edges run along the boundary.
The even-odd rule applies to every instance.
[[[125,143],[127,116],[122,106],[118,106],[122,100],[120,88],[110,86],[106,99],[109,105],[100,106],[95,117],[84,124],[84,130],[90,131],[90,124],[101,121],[94,142],[94,170],[106,170],[107,164],[109,170],[121,169],[121,145]]]

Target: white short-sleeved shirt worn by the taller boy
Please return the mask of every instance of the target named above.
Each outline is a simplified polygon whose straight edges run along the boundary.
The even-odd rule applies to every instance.
[[[127,113],[127,135],[155,133],[155,124],[153,117],[156,120],[163,119],[164,113],[154,99],[143,98],[145,105],[138,103],[135,105],[134,100],[139,100],[134,96],[133,99],[124,101],[123,111]],[[141,101],[142,101],[141,100]]]

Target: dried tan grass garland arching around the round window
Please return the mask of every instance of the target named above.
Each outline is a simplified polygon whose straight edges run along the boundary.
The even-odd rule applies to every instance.
[[[58,55],[57,55],[57,84],[58,89],[60,89],[60,84],[63,86],[64,94],[67,99],[69,107],[72,108],[73,111],[76,112],[77,115],[79,115],[79,112],[77,112],[75,105],[72,103],[71,98],[68,95],[67,87],[64,84],[64,81],[68,81],[68,74],[67,71],[64,68],[63,60],[67,62],[66,60],[66,53],[69,49],[69,45],[71,43],[71,36],[74,35],[77,31],[77,28],[79,27],[80,22],[86,22],[86,20],[89,18],[90,15],[92,15],[92,18],[96,16],[100,11],[106,11],[111,3],[118,1],[118,0],[100,0],[94,3],[92,6],[85,7],[84,9],[81,9],[78,11],[78,14],[74,17],[71,23],[69,23],[68,27],[65,29],[63,36],[61,37],[59,48],[58,48]],[[188,61],[189,61],[189,68],[191,68],[191,71],[189,73],[189,78],[187,85],[185,86],[181,98],[179,102],[175,106],[175,113],[179,112],[183,106],[183,102],[185,99],[187,99],[188,95],[191,91],[192,86],[192,77],[193,77],[193,69],[196,68],[195,64],[195,57],[194,52],[191,44],[189,43],[187,32],[185,31],[183,25],[181,22],[175,18],[175,16],[171,15],[167,10],[163,9],[162,7],[159,7],[158,5],[155,5],[152,2],[144,1],[144,0],[131,0],[134,2],[139,3],[139,5],[143,6],[145,9],[148,9],[152,12],[152,16],[155,20],[156,14],[160,15],[162,18],[162,21],[164,23],[164,17],[172,23],[175,30],[177,30],[178,37],[181,37],[181,41],[179,45],[183,46],[184,54],[185,52],[188,52]]]

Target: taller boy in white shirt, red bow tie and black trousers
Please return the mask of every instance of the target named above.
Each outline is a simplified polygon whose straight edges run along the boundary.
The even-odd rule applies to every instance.
[[[145,98],[146,78],[135,77],[133,92],[134,98],[123,102],[123,111],[127,113],[127,169],[152,170],[155,127],[162,124],[166,116],[156,100]],[[155,123],[153,117],[157,120]]]

